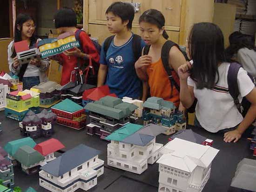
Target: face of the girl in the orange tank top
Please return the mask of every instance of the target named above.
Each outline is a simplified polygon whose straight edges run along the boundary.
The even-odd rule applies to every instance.
[[[156,43],[163,33],[163,29],[159,29],[158,26],[143,21],[140,23],[140,30],[141,38],[148,45]]]

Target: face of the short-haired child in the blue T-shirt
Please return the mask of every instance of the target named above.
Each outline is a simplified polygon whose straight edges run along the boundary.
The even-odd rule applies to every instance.
[[[112,12],[108,12],[107,26],[110,33],[120,33],[127,28],[128,21],[122,22],[121,17],[114,15]]]

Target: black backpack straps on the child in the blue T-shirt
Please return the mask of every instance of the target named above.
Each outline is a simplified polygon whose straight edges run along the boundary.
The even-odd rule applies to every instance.
[[[105,40],[104,46],[103,46],[105,55],[107,55],[108,47],[110,46],[112,40],[114,40],[114,37],[115,37],[115,35],[112,35]],[[132,41],[133,41],[132,42],[133,43],[133,45],[132,45],[133,53],[134,53],[135,61],[137,61],[141,56],[141,48],[142,48],[141,47],[141,36],[134,34]]]

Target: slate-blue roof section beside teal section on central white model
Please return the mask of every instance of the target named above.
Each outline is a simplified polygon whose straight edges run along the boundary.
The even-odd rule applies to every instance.
[[[135,132],[134,134],[128,136],[127,138],[123,139],[121,142],[134,144],[137,146],[146,146],[152,139],[155,137],[150,135],[139,134]]]

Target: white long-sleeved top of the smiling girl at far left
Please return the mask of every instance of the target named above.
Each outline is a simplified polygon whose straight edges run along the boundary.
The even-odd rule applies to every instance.
[[[40,39],[38,39],[40,40]],[[14,74],[18,75],[20,73],[20,66],[17,67],[17,69],[14,69],[13,66],[13,59],[11,58],[13,54],[13,43],[14,40],[10,42],[8,45],[8,64],[9,64],[9,69],[11,72]],[[45,59],[41,61],[43,63],[42,67],[37,67],[31,64],[27,65],[27,69],[23,75],[23,77],[34,77],[34,76],[39,76],[40,77],[40,82],[46,81],[47,80],[47,75],[46,75],[46,70],[49,66],[49,60]]]

